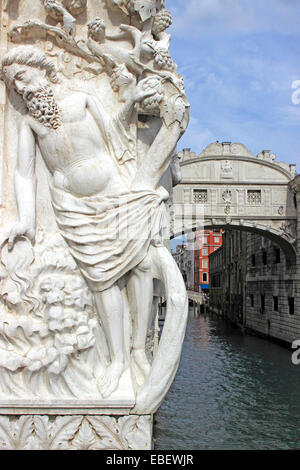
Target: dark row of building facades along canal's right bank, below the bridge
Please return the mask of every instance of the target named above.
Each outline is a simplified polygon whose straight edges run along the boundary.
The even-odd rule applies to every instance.
[[[210,309],[272,339],[300,339],[300,282],[282,249],[254,233],[226,231],[210,256]]]

